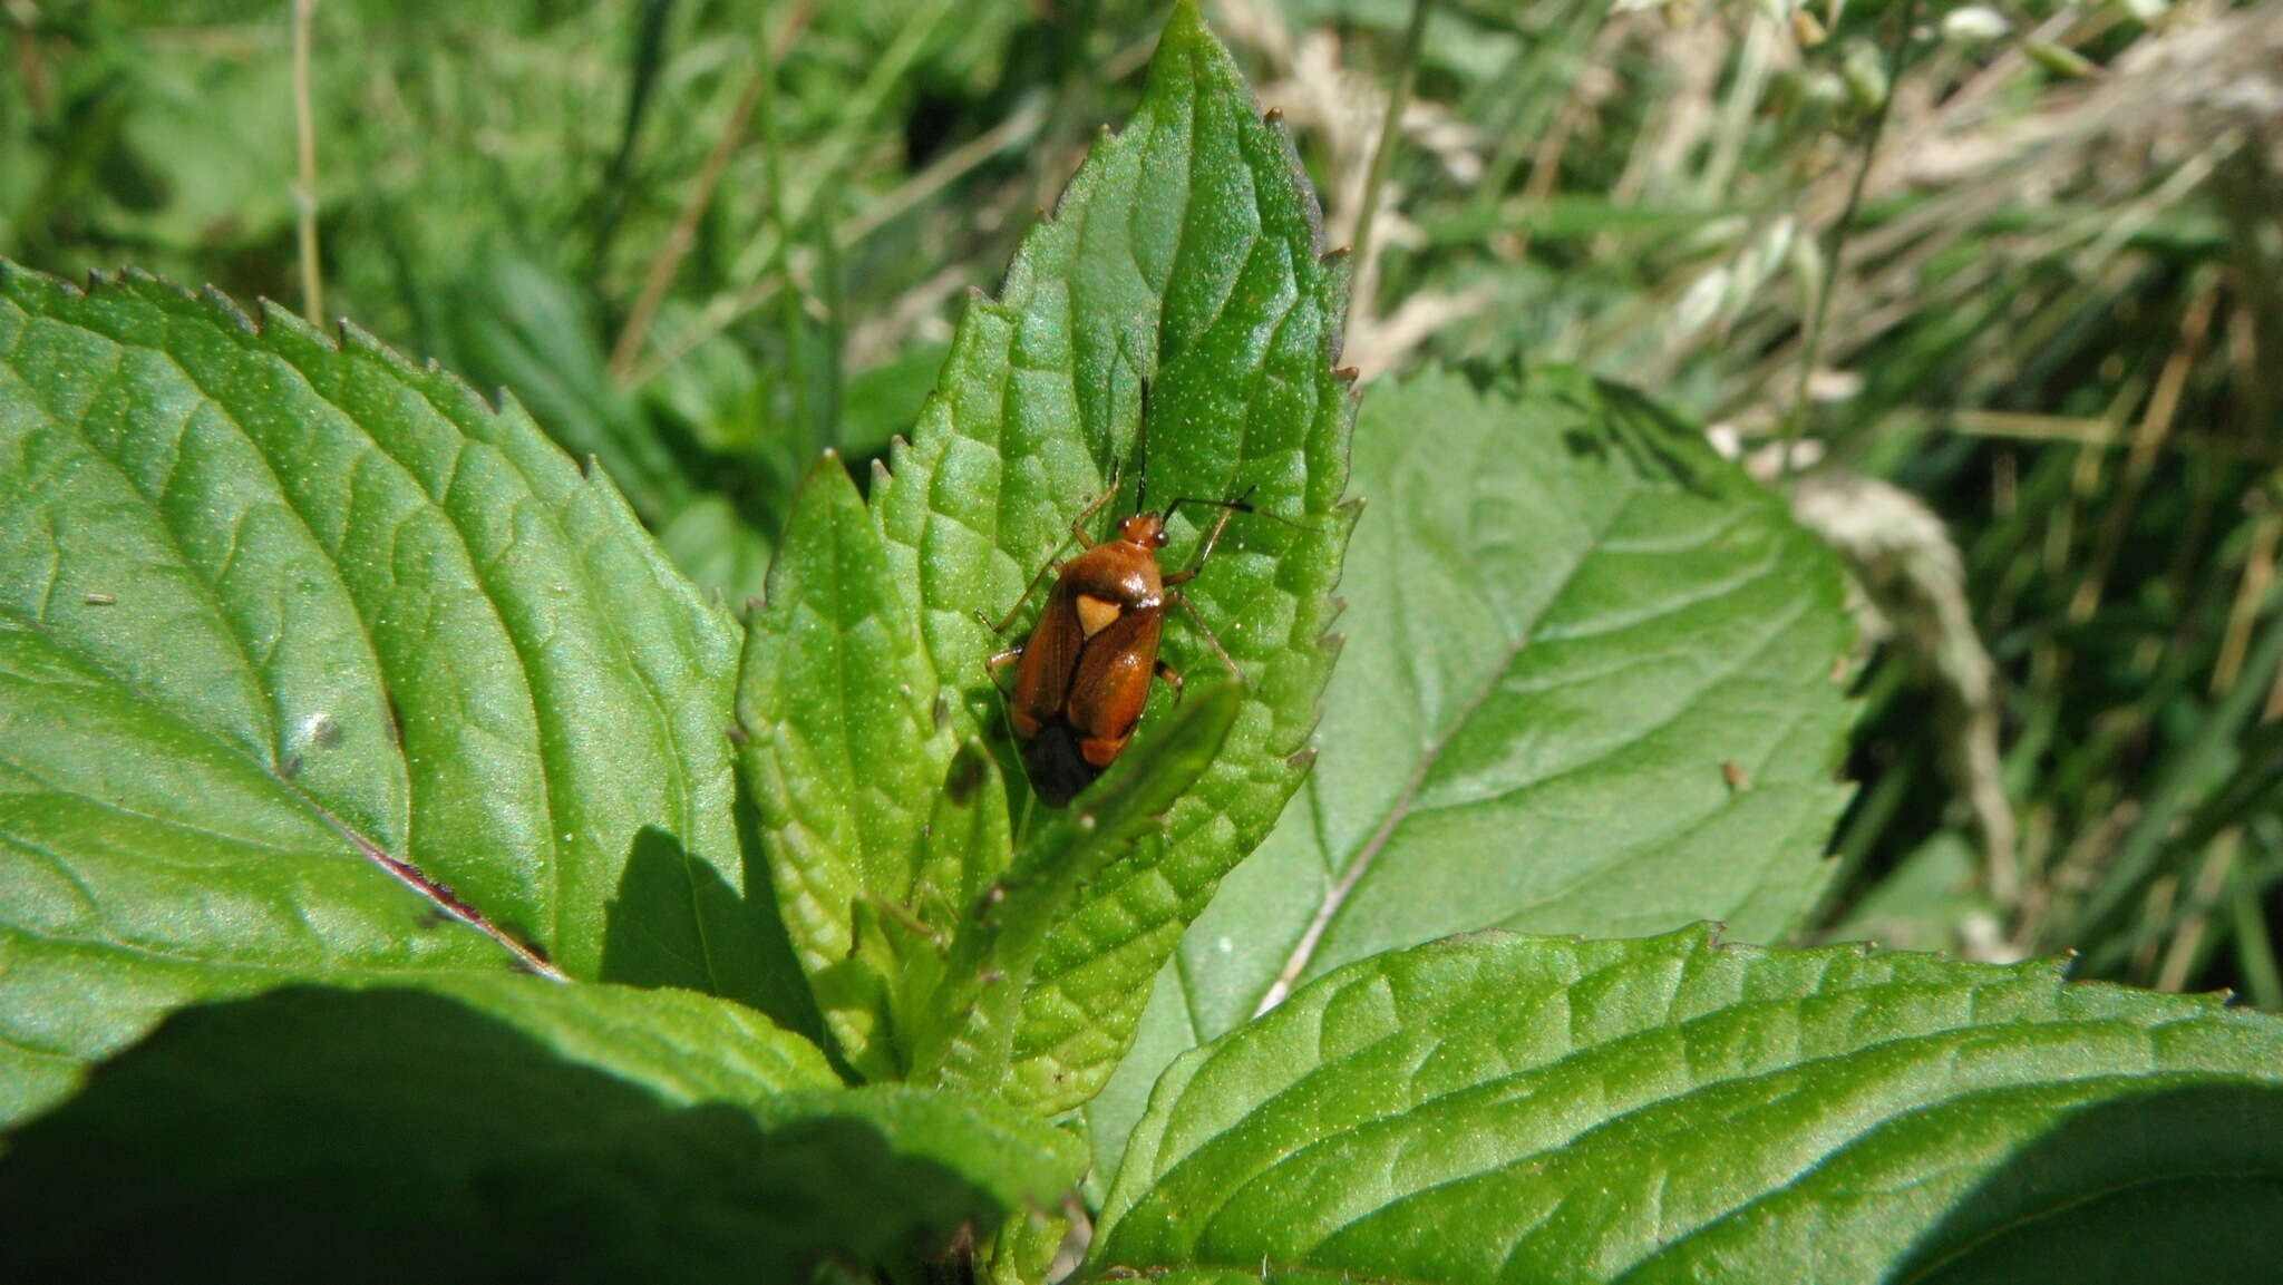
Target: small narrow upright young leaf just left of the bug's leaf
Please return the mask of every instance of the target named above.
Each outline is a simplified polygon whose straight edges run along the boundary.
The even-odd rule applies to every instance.
[[[904,959],[938,949],[970,904],[966,851],[931,842],[959,746],[934,710],[936,687],[879,527],[826,454],[794,498],[769,600],[751,621],[737,724],[794,954],[842,1054],[870,1080],[911,1068]],[[998,792],[966,803],[1005,817]]]

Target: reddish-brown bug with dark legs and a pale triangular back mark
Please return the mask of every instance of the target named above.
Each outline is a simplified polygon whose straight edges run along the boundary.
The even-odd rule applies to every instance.
[[[1135,724],[1142,721],[1142,705],[1148,703],[1153,676],[1180,692],[1180,673],[1157,660],[1164,607],[1180,605],[1196,621],[1196,612],[1173,587],[1194,580],[1228,518],[1249,511],[1242,500],[1173,500],[1164,514],[1135,514],[1119,523],[1116,539],[1096,543],[1087,536],[1084,523],[1114,493],[1112,486],[1071,523],[1071,534],[1084,552],[1068,561],[1050,561],[1016,603],[1021,612],[1039,589],[1039,580],[1046,580],[1048,571],[1059,573],[1030,641],[991,657],[991,669],[1018,664],[1014,692],[1007,694],[1007,721],[1023,744],[1023,769],[1032,790],[1057,808],[1126,753]],[[1164,523],[1180,504],[1219,504],[1221,518],[1199,548],[1196,561],[1167,575],[1157,566],[1157,550],[1164,548]],[[1005,630],[1011,621],[1014,612],[998,628]],[[1219,639],[1203,621],[1196,625],[1235,671]]]

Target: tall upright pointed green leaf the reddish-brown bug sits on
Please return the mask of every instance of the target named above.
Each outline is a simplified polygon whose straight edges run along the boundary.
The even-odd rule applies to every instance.
[[[1142,381],[1153,502],[1249,491],[1262,514],[1299,523],[1237,516],[1185,587],[1244,669],[1244,705],[1162,838],[1116,858],[1052,924],[1011,1045],[1057,1050],[1062,1089],[1041,1109],[1103,1084],[1180,927],[1301,781],[1349,527],[1349,397],[1331,370],[1342,310],[1345,269],[1320,258],[1315,196],[1283,126],[1258,116],[1196,7],[1176,5],[1128,128],[1094,146],[1052,219],[1023,237],[1000,299],[968,306],[911,445],[874,484],[952,719],[1000,751],[1018,806],[1030,792],[984,671],[1002,641],[977,612],[1009,609],[1112,477],[1142,479]],[[1212,516],[1173,518],[1167,568],[1187,566]],[[1164,655],[1187,673],[1221,669],[1180,612]],[[1169,708],[1160,689],[1137,749]],[[1094,1038],[1066,1038],[1073,1013]]]

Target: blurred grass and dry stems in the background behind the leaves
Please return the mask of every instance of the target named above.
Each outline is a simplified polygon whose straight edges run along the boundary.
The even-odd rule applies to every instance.
[[[1205,9],[1329,242],[1377,210],[1368,379],[1584,363],[1845,555],[1863,790],[1810,936],[2283,1007],[2283,0]],[[1164,5],[299,14],[0,0],[0,253],[505,386],[742,598],[804,463],[913,422]]]

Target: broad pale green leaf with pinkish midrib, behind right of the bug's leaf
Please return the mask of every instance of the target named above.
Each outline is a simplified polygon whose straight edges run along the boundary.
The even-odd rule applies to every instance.
[[[1322,755],[1157,981],[1105,1169],[1176,1052],[1294,981],[1486,927],[1769,940],[1822,881],[1852,625],[1776,495],[1573,370],[1372,388],[1356,484]]]

